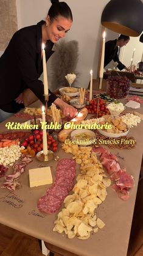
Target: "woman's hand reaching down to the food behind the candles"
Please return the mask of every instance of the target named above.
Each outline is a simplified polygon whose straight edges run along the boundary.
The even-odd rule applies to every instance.
[[[57,98],[54,101],[54,104],[57,105],[59,108],[61,108],[65,116],[70,116],[71,118],[74,118],[77,115],[77,109],[67,104],[61,99]]]

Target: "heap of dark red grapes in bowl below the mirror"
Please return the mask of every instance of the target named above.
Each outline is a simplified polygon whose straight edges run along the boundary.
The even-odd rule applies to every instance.
[[[128,95],[131,81],[127,77],[111,76],[107,80],[106,94],[113,99],[123,99]]]

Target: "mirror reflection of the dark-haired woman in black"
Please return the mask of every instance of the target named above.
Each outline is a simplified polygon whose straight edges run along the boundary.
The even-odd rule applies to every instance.
[[[105,59],[104,59],[104,67],[108,65],[112,60],[114,62],[117,62],[117,68],[119,70],[126,69],[129,71],[128,67],[126,67],[122,62],[119,61],[119,57],[117,55],[119,47],[123,47],[124,45],[127,45],[129,42],[130,37],[120,35],[118,39],[110,40],[105,43]]]

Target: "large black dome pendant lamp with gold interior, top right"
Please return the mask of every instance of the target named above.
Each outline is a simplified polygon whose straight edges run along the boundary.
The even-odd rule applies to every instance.
[[[101,23],[119,34],[137,37],[143,31],[143,2],[111,0],[103,9]]]

